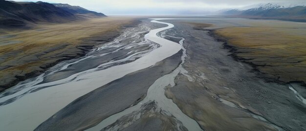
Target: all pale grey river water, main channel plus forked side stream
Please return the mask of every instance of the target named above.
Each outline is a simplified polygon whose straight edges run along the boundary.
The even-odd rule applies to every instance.
[[[143,23],[139,27],[129,28],[114,41],[101,44],[85,57],[60,63],[44,74],[28,79],[2,92],[0,94],[0,111],[2,112],[0,113],[0,127],[2,127],[2,130],[34,130],[73,100],[129,73],[153,66],[182,49],[182,63],[170,74],[157,79],[148,89],[147,95],[142,101],[124,111],[109,116],[88,131],[102,129],[116,131],[120,126],[110,127],[109,125],[125,116],[132,117],[133,121],[124,125],[129,126],[140,119],[143,107],[152,102],[156,104],[156,108],[162,112],[162,115],[171,116],[175,119],[177,130],[183,130],[182,127],[185,127],[189,131],[201,131],[195,120],[185,115],[171,99],[165,96],[165,88],[175,86],[174,80],[179,73],[188,77],[189,81],[194,80],[187,75],[188,72],[182,66],[186,58],[186,49],[183,47],[184,38],[175,37],[181,39],[177,44],[158,37],[157,33],[174,27],[171,23],[158,22],[158,20],[169,19],[154,19],[151,22],[168,26],[151,30],[148,25]],[[109,59],[114,55],[117,55],[117,57]],[[205,78],[204,75],[202,77]],[[305,104],[305,98],[293,87],[289,88],[296,94],[297,99]],[[221,102],[237,108],[235,104],[226,100],[221,100]],[[253,117],[266,121],[257,115]],[[276,129],[278,128],[276,127]]]

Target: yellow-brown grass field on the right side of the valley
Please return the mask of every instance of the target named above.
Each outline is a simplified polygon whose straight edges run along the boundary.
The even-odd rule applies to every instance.
[[[238,57],[283,82],[306,82],[306,24],[257,22],[215,32],[228,39]]]

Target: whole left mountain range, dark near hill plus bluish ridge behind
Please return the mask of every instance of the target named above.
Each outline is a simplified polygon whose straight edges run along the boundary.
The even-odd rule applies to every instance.
[[[47,2],[15,2],[0,0],[0,28],[30,27],[37,22],[71,22],[84,20],[80,14],[104,17],[102,13],[86,10],[78,6],[57,7]],[[69,9],[69,10],[68,10]]]

